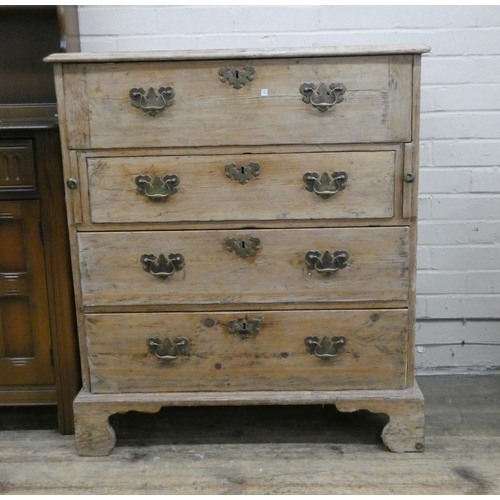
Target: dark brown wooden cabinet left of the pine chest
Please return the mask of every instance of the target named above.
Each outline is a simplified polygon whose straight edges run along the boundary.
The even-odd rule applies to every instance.
[[[48,54],[79,50],[76,6],[0,7],[0,405],[57,404],[80,386],[61,147]]]

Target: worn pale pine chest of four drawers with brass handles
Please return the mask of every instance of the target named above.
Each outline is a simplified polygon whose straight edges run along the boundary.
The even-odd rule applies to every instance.
[[[334,404],[424,447],[414,381],[424,46],[64,54],[54,63],[83,389],[108,417]]]

